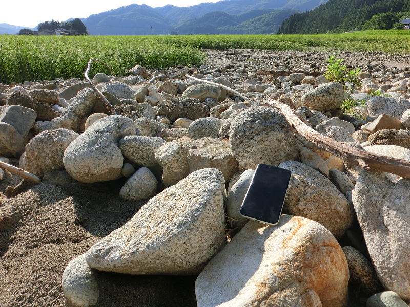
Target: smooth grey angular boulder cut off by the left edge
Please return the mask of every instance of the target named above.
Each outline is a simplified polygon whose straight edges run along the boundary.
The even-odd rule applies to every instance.
[[[0,156],[12,156],[24,151],[29,130],[37,113],[32,109],[11,105],[0,113]]]

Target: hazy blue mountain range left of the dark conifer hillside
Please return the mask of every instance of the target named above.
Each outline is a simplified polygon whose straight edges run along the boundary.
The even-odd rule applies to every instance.
[[[311,10],[326,1],[222,0],[190,7],[166,5],[157,8],[131,4],[81,20],[91,35],[158,35],[171,31],[178,34],[260,34],[264,33],[265,24],[267,33],[276,33],[282,20],[290,14]],[[259,19],[251,21],[254,18]]]

